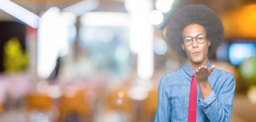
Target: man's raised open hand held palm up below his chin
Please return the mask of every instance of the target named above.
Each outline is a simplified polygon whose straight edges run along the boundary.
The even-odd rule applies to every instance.
[[[211,75],[214,67],[215,65],[212,65],[212,67],[210,68],[206,66],[201,66],[197,70],[195,70],[195,79],[198,81],[198,83],[206,82],[208,80],[208,76]]]

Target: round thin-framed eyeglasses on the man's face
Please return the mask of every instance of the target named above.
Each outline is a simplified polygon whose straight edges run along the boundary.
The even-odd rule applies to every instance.
[[[196,40],[198,43],[202,44],[202,43],[204,43],[205,40],[206,40],[206,35],[199,34],[199,35],[196,36],[196,37],[189,37],[189,36],[188,36],[188,37],[185,37],[184,39],[182,39],[182,42],[183,42],[183,44],[185,44],[186,46],[189,46],[189,45],[192,44],[193,38],[195,38],[195,40]]]

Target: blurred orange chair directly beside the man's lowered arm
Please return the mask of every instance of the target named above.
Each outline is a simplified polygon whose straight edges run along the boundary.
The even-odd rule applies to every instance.
[[[148,98],[143,101],[140,122],[154,122],[158,103],[157,93],[157,91],[150,91],[148,94]]]

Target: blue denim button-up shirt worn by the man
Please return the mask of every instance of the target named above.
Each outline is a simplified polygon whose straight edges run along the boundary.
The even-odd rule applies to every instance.
[[[211,67],[209,60],[207,67]],[[186,60],[184,67],[161,78],[154,122],[188,121],[190,83],[194,73]],[[199,86],[197,87],[196,122],[229,122],[236,87],[235,78],[229,72],[214,68],[208,80],[212,92],[204,100]]]

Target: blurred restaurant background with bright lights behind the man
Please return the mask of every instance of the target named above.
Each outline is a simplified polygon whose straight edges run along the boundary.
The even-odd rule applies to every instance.
[[[164,33],[204,4],[225,37],[231,122],[256,122],[255,0],[0,0],[0,122],[154,122],[160,78],[184,65]]]

